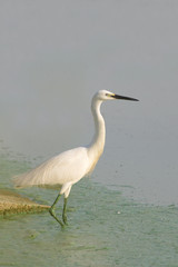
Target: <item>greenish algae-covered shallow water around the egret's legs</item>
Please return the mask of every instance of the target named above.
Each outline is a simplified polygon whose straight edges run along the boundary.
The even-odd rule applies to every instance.
[[[1,162],[2,188],[4,177],[30,166],[4,155]],[[19,192],[47,205],[57,195],[39,188]],[[48,212],[0,219],[0,266],[177,266],[176,206],[138,204],[91,177],[73,186],[67,212],[65,229]]]

